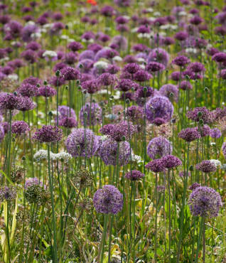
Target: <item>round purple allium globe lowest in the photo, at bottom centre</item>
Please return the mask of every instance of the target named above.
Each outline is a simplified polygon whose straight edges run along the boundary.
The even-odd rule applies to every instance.
[[[98,213],[115,215],[122,210],[123,195],[115,186],[106,185],[95,193],[93,205]]]

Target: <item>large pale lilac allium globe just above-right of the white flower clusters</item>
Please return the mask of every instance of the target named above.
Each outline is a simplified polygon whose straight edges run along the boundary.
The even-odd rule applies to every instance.
[[[87,156],[90,158],[95,154],[99,146],[99,139],[90,129],[74,129],[65,141],[68,153],[73,157]]]

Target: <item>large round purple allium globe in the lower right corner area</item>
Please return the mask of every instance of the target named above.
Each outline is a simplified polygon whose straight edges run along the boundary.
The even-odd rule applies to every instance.
[[[194,216],[217,217],[222,200],[214,189],[207,186],[195,188],[188,198],[190,212]]]

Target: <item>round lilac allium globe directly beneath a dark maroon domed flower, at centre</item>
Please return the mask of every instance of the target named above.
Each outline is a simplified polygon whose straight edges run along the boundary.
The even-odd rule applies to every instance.
[[[109,138],[102,141],[98,154],[106,165],[116,166],[118,156],[119,166],[124,166],[129,163],[130,146],[127,141],[117,142]]]

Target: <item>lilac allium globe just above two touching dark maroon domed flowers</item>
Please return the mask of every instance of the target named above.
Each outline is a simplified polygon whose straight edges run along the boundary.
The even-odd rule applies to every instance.
[[[147,146],[147,154],[151,159],[159,159],[171,154],[172,151],[171,142],[162,136],[151,139]]]

